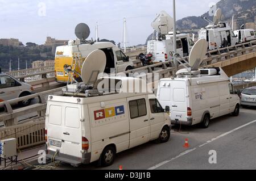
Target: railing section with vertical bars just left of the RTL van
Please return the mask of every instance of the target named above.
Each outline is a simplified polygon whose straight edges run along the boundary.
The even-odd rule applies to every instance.
[[[0,140],[16,138],[17,148],[25,149],[32,146],[45,144],[45,121],[24,123],[7,128],[0,128]]]

